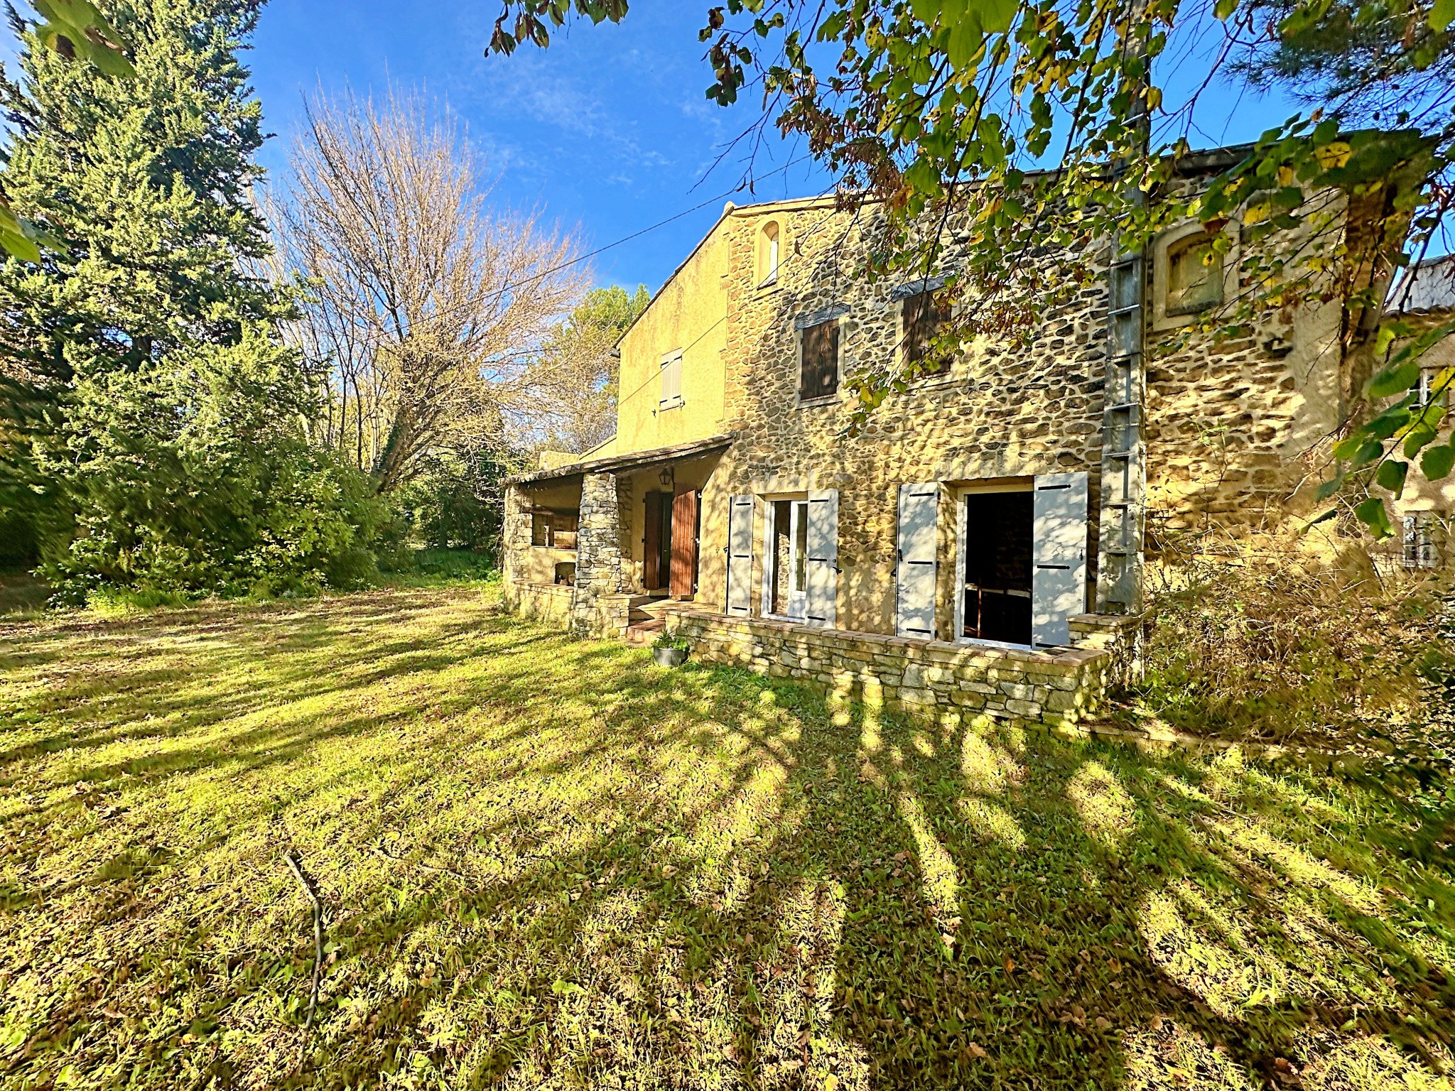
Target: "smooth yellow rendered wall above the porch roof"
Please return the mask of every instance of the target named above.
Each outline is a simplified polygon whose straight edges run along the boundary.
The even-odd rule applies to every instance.
[[[613,454],[672,447],[725,431],[726,272],[719,225],[623,337]],[[682,404],[659,409],[662,358],[677,349],[682,351]]]

